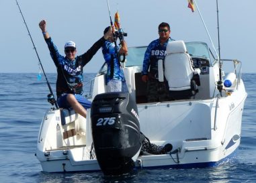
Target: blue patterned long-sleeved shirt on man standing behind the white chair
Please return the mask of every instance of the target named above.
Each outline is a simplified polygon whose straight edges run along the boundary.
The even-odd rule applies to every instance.
[[[151,76],[157,76],[157,61],[160,59],[165,59],[167,43],[172,41],[174,40],[169,38],[167,42],[165,42],[165,44],[163,44],[162,46],[160,40],[157,39],[148,45],[148,48],[146,49],[146,52],[144,54],[142,75],[148,74],[148,68],[150,66],[149,72],[151,73]]]

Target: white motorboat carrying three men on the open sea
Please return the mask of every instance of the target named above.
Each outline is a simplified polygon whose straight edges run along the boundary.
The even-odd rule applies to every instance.
[[[162,102],[147,103],[146,85],[140,80],[145,50],[146,46],[129,48],[123,70],[130,95],[105,93],[106,66],[104,65],[91,85],[88,98],[94,100],[93,107],[88,110],[87,119],[67,109],[52,108],[46,112],[36,148],[36,157],[43,171],[96,171],[104,168],[104,160],[115,162],[114,168],[118,169],[117,160],[112,156],[112,149],[116,147],[108,144],[104,149],[99,142],[104,139],[112,141],[108,139],[112,137],[110,133],[116,129],[122,131],[115,125],[122,123],[118,117],[122,118],[120,115],[123,112],[113,117],[114,105],[107,100],[108,97],[113,96],[120,100],[128,99],[128,103],[134,101],[135,107],[132,108],[134,111],[128,109],[127,105],[120,105],[121,111],[126,111],[125,113],[135,119],[139,117],[139,125],[130,119],[127,120],[130,121],[130,125],[125,125],[138,135],[132,143],[136,141],[141,147],[141,134],[138,134],[140,130],[151,143],[159,146],[167,143],[173,145],[173,149],[167,154],[141,153],[140,147],[136,147],[130,156],[130,160],[134,162],[129,165],[132,167],[130,170],[217,166],[234,154],[241,141],[242,115],[247,98],[241,78],[241,62],[215,59],[204,42],[170,42],[167,45],[165,60],[159,61],[159,80],[166,78],[170,98]],[[161,67],[163,64],[165,71]],[[192,82],[192,85],[196,85],[191,89],[191,80],[194,78],[197,82]],[[195,86],[197,88],[193,88]],[[187,97],[185,90],[192,94],[191,97]],[[194,92],[191,92],[192,90]],[[104,96],[107,96],[106,100]],[[97,100],[101,100],[102,103],[96,104]],[[108,117],[105,117],[106,115]],[[105,129],[110,131],[107,132],[108,135],[102,136]],[[96,138],[98,135],[101,139]],[[124,144],[121,144],[120,148],[125,148],[122,145]],[[100,149],[104,152],[97,154]],[[95,151],[100,161],[97,161]],[[110,152],[107,158],[102,155],[105,151],[107,154],[108,151]],[[122,166],[120,165],[119,168]],[[111,168],[113,167],[110,167],[110,170]]]

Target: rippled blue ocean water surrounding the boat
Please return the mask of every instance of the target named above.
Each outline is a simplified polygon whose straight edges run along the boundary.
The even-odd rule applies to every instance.
[[[46,74],[55,95],[56,74]],[[85,93],[95,74],[85,74]],[[42,172],[34,156],[36,140],[47,102],[48,86],[36,73],[0,73],[0,182],[256,182],[256,73],[243,74],[245,102],[241,145],[234,158],[221,166],[200,169],[137,170],[126,176],[102,172]]]

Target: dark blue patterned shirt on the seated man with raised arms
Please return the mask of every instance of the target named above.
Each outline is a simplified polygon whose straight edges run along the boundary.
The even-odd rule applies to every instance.
[[[97,50],[103,45],[103,42],[105,42],[105,39],[102,37],[95,42],[85,54],[77,56],[71,61],[59,54],[58,49],[51,38],[46,39],[46,44],[50,50],[50,56],[52,57],[58,72],[56,82],[57,97],[60,97],[62,93],[74,93],[80,95],[83,93],[83,66],[93,58]]]

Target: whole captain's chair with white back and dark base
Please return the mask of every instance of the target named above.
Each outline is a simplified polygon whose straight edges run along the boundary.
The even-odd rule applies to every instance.
[[[159,81],[163,82],[164,78],[167,80],[170,100],[191,99],[198,92],[200,72],[194,70],[185,43],[169,42],[166,52],[164,63],[163,60],[158,63]]]

